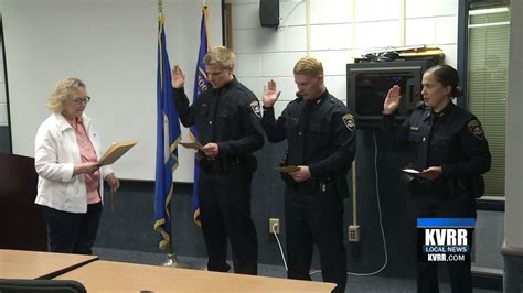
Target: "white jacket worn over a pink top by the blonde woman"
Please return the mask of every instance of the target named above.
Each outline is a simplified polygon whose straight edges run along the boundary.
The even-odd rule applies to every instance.
[[[83,113],[96,156],[100,158],[100,140]],[[81,164],[78,143],[73,127],[61,113],[52,113],[40,124],[34,140],[34,166],[39,174],[38,195],[34,203],[70,213],[87,213],[87,191],[84,174],[73,176],[75,164]],[[113,173],[109,166],[100,171],[99,194],[104,203],[104,178]]]

